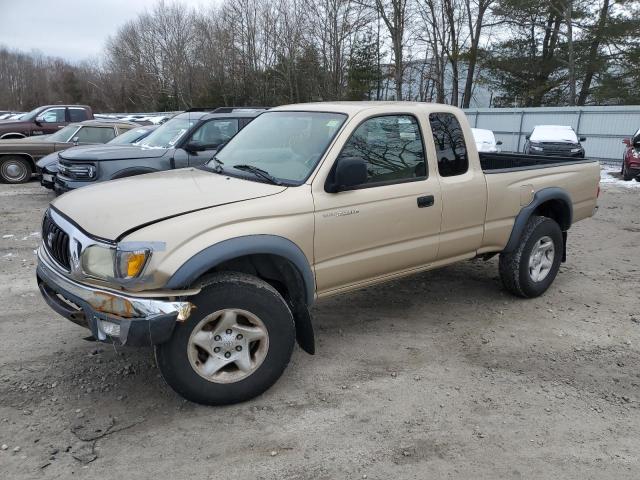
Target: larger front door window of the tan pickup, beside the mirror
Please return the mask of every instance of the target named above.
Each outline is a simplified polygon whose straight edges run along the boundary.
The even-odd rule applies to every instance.
[[[403,182],[425,178],[422,136],[411,115],[374,117],[362,123],[347,141],[340,158],[357,157],[367,163],[366,183]]]

